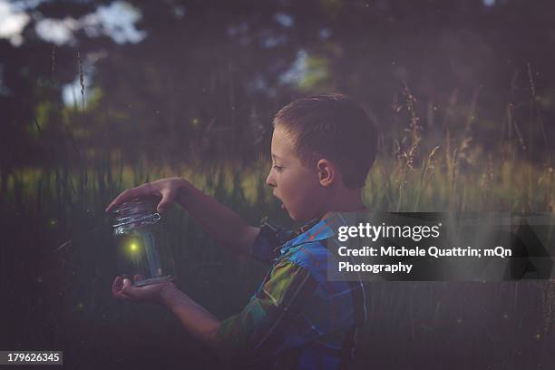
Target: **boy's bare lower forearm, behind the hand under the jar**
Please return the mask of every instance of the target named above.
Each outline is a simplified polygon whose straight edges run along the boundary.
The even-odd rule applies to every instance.
[[[216,316],[177,288],[166,291],[161,298],[191,336],[209,345],[218,343],[219,319]]]

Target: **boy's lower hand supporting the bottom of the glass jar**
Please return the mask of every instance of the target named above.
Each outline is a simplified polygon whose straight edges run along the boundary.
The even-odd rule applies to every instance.
[[[140,278],[135,277],[135,280]],[[149,302],[162,305],[165,303],[165,299],[175,290],[177,290],[177,287],[171,281],[144,287],[133,287],[128,278],[116,277],[112,283],[113,297],[133,302]]]

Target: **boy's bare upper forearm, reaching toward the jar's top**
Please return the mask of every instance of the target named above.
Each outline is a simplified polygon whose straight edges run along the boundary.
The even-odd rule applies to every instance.
[[[220,244],[233,248],[236,253],[250,254],[259,228],[249,226],[236,212],[184,179],[176,201]]]

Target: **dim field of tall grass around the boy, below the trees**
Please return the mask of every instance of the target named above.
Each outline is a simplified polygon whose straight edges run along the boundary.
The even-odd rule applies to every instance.
[[[381,141],[364,192],[368,208],[552,212],[549,163],[525,161],[515,154],[518,148],[484,151],[449,136],[443,145],[424,148],[420,133],[414,127],[408,132],[405,149]],[[176,358],[193,368],[214,365],[168,312],[112,299],[117,269],[103,209],[126,188],[179,175],[252,224],[269,216],[292,227],[265,185],[269,161],[170,168],[146,159],[123,163],[110,151],[63,158],[2,176],[2,348],[63,349],[72,368],[146,368]],[[165,215],[164,228],[178,286],[219,317],[238,312],[264,267],[233,258],[177,207]],[[550,282],[370,283],[367,293],[370,320],[358,342],[361,367],[414,361],[462,368],[553,364]]]

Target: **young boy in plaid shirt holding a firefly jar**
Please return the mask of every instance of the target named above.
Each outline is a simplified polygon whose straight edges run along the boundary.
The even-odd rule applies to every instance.
[[[267,262],[268,275],[247,306],[220,321],[171,282],[134,287],[122,277],[115,278],[112,294],[170,308],[190,335],[234,359],[275,368],[344,367],[365,321],[365,293],[360,281],[327,280],[326,241],[341,222],[334,212],[365,209],[362,188],[375,160],[375,127],[358,104],[337,93],[291,102],[273,125],[266,182],[291,219],[307,223],[297,233],[248,226],[180,178],[125,190],[106,209],[158,195],[158,211],[176,201],[221,245]]]

